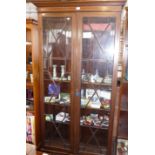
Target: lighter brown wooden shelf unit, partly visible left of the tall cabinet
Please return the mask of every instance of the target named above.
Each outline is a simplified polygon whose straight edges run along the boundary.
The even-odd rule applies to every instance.
[[[38,107],[38,25],[26,20],[26,141],[36,143],[35,113]]]

